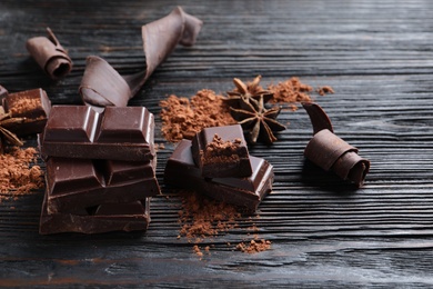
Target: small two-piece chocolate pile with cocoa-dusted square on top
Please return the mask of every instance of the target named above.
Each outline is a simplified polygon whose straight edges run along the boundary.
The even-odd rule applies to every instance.
[[[169,158],[164,183],[254,212],[272,191],[273,167],[249,155],[241,126],[204,128]]]

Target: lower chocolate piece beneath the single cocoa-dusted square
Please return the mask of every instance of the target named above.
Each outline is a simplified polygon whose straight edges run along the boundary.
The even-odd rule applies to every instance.
[[[192,159],[191,141],[182,140],[167,162],[164,183],[195,190],[254,212],[272,191],[274,173],[272,165],[264,159],[250,156],[250,160],[252,175],[248,178],[204,179]]]

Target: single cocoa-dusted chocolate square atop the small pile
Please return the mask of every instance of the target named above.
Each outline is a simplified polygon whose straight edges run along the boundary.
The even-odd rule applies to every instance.
[[[202,177],[249,177],[252,173],[240,124],[204,128],[192,139],[192,156]]]

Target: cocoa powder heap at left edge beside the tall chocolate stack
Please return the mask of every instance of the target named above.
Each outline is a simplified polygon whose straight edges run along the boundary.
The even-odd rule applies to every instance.
[[[34,148],[9,148],[0,155],[0,201],[43,188],[43,172]]]

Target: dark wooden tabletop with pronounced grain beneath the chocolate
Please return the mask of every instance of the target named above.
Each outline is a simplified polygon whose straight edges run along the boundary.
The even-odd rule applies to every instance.
[[[140,27],[175,4],[204,21],[198,43],[179,47],[131,104],[157,116],[168,94],[223,92],[232,78],[263,83],[298,76],[334,94],[313,94],[335,132],[372,162],[359,190],[311,166],[303,148],[312,128],[302,110],[251,153],[275,168],[260,218],[202,243],[203,259],[177,239],[180,200],[163,187],[173,146],[159,152],[158,178],[170,198],[152,200],[145,233],[38,233],[43,192],[0,203],[0,286],[117,287],[432,287],[433,286],[433,2],[430,1],[12,1],[0,2],[0,83],[42,87],[52,102],[80,103],[89,54],[121,73],[142,67]],[[24,41],[49,26],[74,61],[50,81]],[[34,140],[28,144],[34,146]],[[272,249],[248,255],[226,243],[251,239],[255,222]]]

